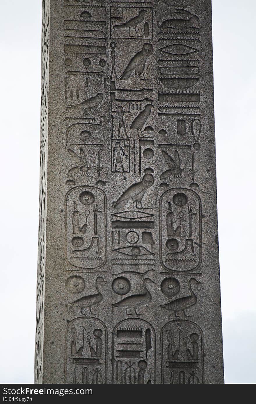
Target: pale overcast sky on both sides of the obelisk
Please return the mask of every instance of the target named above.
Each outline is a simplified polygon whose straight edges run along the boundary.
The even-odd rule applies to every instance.
[[[212,0],[226,383],[256,383],[255,0]],[[40,0],[0,3],[0,383],[34,382]]]

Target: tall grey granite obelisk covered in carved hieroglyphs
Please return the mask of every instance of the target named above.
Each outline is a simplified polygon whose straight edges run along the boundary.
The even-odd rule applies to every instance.
[[[36,383],[224,383],[211,0],[43,0]]]

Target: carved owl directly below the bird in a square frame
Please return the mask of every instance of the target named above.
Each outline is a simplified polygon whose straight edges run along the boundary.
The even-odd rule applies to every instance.
[[[123,74],[120,76],[120,80],[127,80],[133,72],[135,72],[135,76],[139,74],[140,80],[146,80],[144,76],[144,68],[146,64],[146,60],[150,55],[153,53],[153,46],[152,44],[145,43],[142,46],[142,50],[140,52],[136,53],[136,55],[133,56],[131,61],[128,63],[125,71]],[[143,76],[143,79],[141,78],[141,75]]]

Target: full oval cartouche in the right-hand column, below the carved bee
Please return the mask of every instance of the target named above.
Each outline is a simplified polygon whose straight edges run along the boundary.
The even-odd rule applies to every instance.
[[[161,196],[160,261],[170,271],[189,271],[202,261],[202,208],[190,189],[173,188]]]

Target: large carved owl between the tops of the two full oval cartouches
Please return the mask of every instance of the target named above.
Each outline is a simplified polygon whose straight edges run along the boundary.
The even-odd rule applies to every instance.
[[[142,181],[131,185],[116,202],[112,203],[112,208],[123,208],[130,200],[132,200],[133,203],[136,203],[137,209],[143,208],[142,198],[144,197],[147,189],[150,188],[154,183],[152,172],[153,170],[151,168],[146,168],[146,170],[144,170],[144,177]]]

